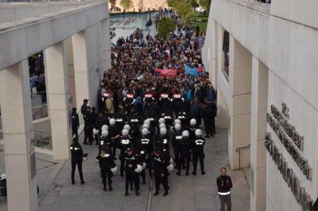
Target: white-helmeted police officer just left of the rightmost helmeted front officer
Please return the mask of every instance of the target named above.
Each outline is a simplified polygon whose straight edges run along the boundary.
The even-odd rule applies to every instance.
[[[192,142],[189,138],[189,131],[184,130],[182,132],[182,139],[180,142],[180,160],[182,161],[185,159],[185,176],[189,175],[189,168],[190,168],[190,158],[191,158],[191,147]],[[178,166],[178,172],[176,175],[181,175],[181,165]]]

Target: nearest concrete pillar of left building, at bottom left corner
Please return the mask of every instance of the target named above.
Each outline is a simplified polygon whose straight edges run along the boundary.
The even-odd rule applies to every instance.
[[[0,71],[0,102],[8,211],[37,211],[36,166],[27,60]]]

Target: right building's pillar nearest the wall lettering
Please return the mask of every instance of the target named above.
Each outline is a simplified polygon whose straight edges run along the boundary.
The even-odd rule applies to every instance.
[[[250,132],[250,211],[266,211],[266,112],[268,68],[252,57],[252,96]]]

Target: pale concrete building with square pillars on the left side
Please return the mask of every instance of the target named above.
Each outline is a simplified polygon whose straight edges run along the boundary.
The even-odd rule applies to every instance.
[[[53,157],[68,160],[71,108],[97,104],[110,68],[108,2],[0,3],[0,105],[9,211],[36,211],[27,58],[44,51]],[[46,118],[46,120],[48,120]]]

